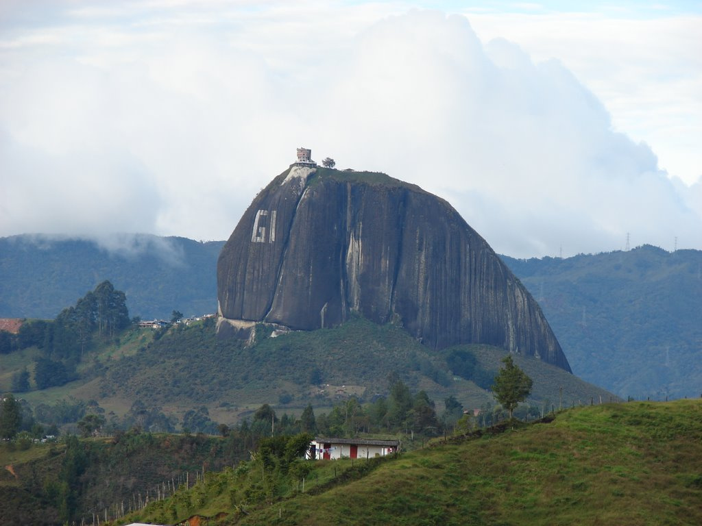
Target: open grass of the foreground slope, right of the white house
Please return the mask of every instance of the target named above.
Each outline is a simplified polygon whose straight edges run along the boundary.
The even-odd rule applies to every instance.
[[[698,400],[567,410],[407,454],[281,523],[700,524],[701,412]]]

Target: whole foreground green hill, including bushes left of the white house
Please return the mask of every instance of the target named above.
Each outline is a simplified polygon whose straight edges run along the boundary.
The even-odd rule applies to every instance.
[[[205,525],[698,525],[702,402],[576,407],[378,461],[260,460],[211,473],[131,521]],[[258,462],[258,464],[257,464]],[[193,523],[193,522],[191,522]]]

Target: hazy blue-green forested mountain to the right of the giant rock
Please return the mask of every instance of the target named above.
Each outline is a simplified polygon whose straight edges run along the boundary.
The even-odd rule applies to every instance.
[[[702,252],[644,245],[567,259],[504,257],[574,374],[619,396],[702,392]]]

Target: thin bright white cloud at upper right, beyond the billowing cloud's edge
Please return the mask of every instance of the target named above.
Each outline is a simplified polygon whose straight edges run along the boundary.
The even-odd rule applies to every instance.
[[[687,184],[702,175],[693,146],[702,141],[702,15],[466,14],[481,39],[508,38],[537,61],[559,58],[617,130],[654,146],[668,173]]]

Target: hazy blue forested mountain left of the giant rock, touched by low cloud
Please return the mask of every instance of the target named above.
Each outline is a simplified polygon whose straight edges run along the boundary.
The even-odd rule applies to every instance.
[[[206,243],[146,234],[86,239],[0,238],[0,318],[55,318],[98,283],[126,294],[131,316],[171,318],[217,310],[217,257]]]

